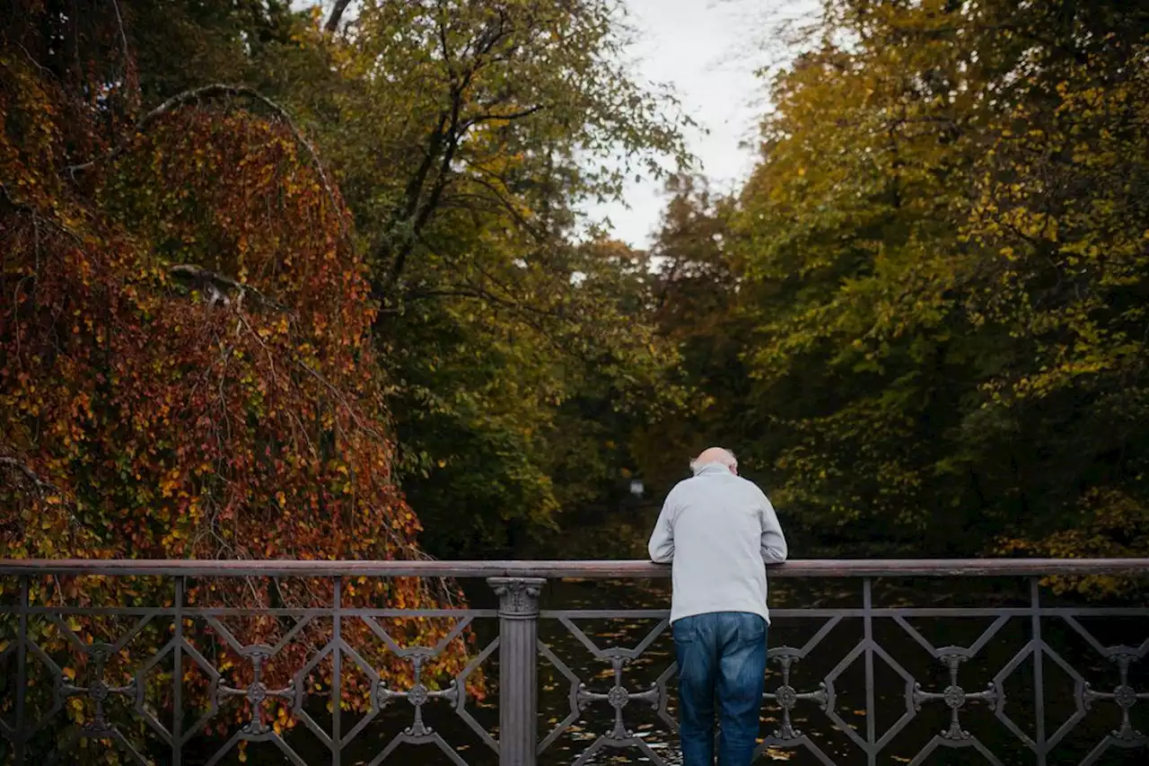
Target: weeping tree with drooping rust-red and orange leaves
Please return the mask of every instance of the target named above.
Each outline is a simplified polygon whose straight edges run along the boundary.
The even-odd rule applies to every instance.
[[[418,520],[393,480],[376,307],[350,216],[290,116],[226,85],[141,110],[115,2],[17,0],[2,21],[0,557],[419,557]],[[344,593],[400,607],[457,596],[415,581]],[[168,597],[142,579],[45,579],[31,592],[36,603]],[[201,583],[186,598],[317,606],[332,587]],[[385,627],[433,645],[450,626],[432,622]],[[162,645],[172,627],[145,631]],[[233,630],[275,644],[293,627],[267,619]],[[99,642],[116,626],[34,627],[74,679],[91,657],[69,649],[68,631]],[[198,622],[186,631],[193,644],[219,638]],[[300,631],[265,668],[269,687],[327,631]],[[431,676],[462,667],[455,641]],[[385,675],[410,673],[378,638],[368,643]],[[250,662],[223,651],[217,667],[244,688]],[[123,681],[133,662],[119,659],[106,673]],[[329,682],[330,664],[316,675]],[[345,680],[345,705],[368,704],[364,683]],[[277,728],[291,726],[268,707]]]

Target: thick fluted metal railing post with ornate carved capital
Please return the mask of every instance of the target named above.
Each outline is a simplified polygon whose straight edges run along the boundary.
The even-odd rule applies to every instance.
[[[534,766],[540,577],[488,577],[499,596],[499,766]]]

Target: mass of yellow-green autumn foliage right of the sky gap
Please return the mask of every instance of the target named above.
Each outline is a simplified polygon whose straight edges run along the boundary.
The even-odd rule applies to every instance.
[[[740,445],[805,550],[1149,550],[1147,36],[1120,2],[827,2],[733,210],[669,208],[687,441]]]

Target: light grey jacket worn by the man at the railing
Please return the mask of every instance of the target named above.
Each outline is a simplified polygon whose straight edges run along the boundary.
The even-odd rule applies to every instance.
[[[666,496],[648,549],[653,561],[672,565],[671,622],[708,612],[770,622],[764,565],[786,560],[786,537],[754,482],[703,466]]]

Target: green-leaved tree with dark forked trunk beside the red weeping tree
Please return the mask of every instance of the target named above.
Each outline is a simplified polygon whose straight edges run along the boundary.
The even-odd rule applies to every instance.
[[[612,321],[614,283],[579,282],[610,265],[571,243],[579,200],[684,159],[672,104],[623,64],[619,21],[601,0],[369,2],[324,44],[338,85],[292,97],[324,124],[369,252],[404,487],[435,553],[552,527],[555,477],[576,473],[549,436],[564,403],[603,374],[634,391],[627,376],[673,359]],[[616,150],[622,167],[597,164]]]

